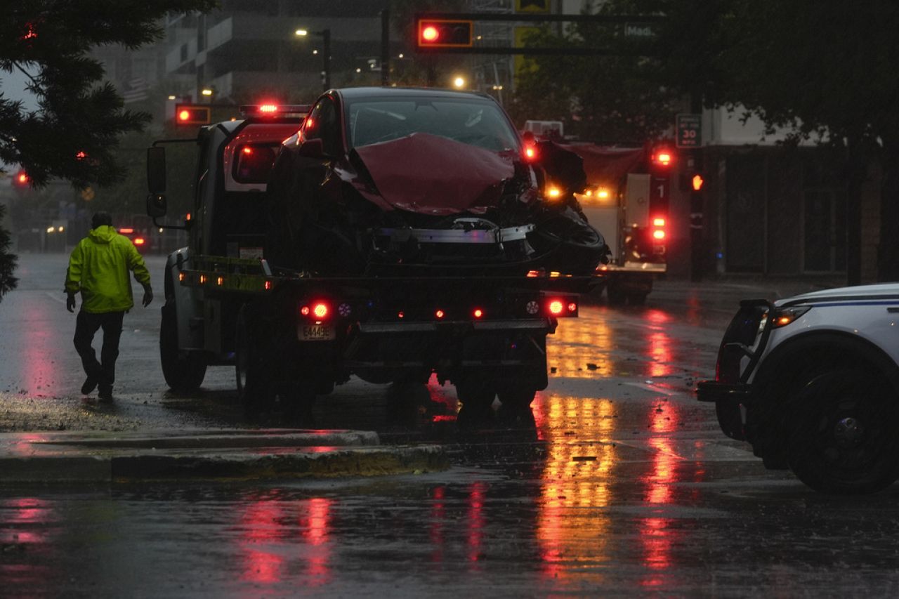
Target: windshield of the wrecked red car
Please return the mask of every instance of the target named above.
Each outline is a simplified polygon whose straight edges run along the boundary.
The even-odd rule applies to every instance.
[[[412,133],[502,152],[518,149],[518,136],[493,102],[470,98],[361,99],[346,108],[350,146],[359,148]]]

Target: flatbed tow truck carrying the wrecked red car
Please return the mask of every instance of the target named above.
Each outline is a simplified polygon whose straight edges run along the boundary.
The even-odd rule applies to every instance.
[[[285,227],[288,219],[272,204],[270,176],[282,164],[279,158],[276,166],[276,158],[293,148],[302,160],[334,167],[334,155],[312,139],[313,122],[325,121],[321,107],[341,97],[332,90],[312,112],[308,106],[244,106],[241,119],[200,127],[191,139],[199,150],[191,218],[181,225],[157,219],[167,211],[165,147],[185,140],[163,139],[148,148],[147,213],[157,227],[186,229],[189,238],[165,264],[159,348],[166,383],[191,391],[209,366],[230,366],[248,415],[277,404],[300,419],[311,418],[316,397],[353,375],[374,383],[423,383],[432,376],[441,385],[450,382],[462,403],[460,423],[489,417],[494,398],[503,407],[530,407],[535,392],[547,387],[546,337],[556,331],[557,318],[578,316],[592,276],[541,268],[492,273],[487,266],[404,270],[399,263],[378,273],[334,274],[283,257],[292,251],[285,239],[301,233]],[[487,98],[466,101],[483,113],[494,110]],[[366,110],[378,118],[395,113]],[[481,248],[502,250],[503,235],[506,246],[519,237],[514,243],[523,244],[530,230],[482,230],[479,219],[460,220],[462,227],[442,232],[405,228],[400,245],[407,249],[417,234],[416,247],[433,237],[444,247],[480,244],[483,255]]]

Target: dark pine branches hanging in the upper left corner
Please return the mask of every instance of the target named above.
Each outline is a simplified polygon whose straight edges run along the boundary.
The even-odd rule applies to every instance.
[[[208,11],[214,0],[29,0],[4,2],[0,20],[3,72],[28,78],[36,111],[0,93],[0,162],[19,164],[42,186],[51,178],[78,188],[120,180],[120,135],[142,130],[149,115],[132,112],[103,82],[98,46],[125,48],[158,40],[166,13]]]

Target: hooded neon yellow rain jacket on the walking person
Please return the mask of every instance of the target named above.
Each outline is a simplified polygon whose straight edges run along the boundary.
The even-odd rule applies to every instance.
[[[129,271],[150,284],[144,258],[128,237],[109,225],[91,229],[68,259],[66,291],[81,291],[81,309],[93,314],[124,312],[134,307]]]

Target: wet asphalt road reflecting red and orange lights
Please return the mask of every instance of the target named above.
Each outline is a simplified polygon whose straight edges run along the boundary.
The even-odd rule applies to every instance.
[[[126,316],[116,404],[83,403],[64,270],[65,256],[22,256],[0,304],[0,430],[247,425],[231,371],[210,370],[197,397],[165,391],[158,303]],[[899,487],[816,495],[726,439],[691,393],[735,300],[795,287],[663,282],[645,308],[583,308],[552,338],[530,426],[461,434],[436,384],[392,419],[391,392],[359,381],[316,407],[323,426],[443,443],[447,472],[4,487],[0,595],[895,595]]]

